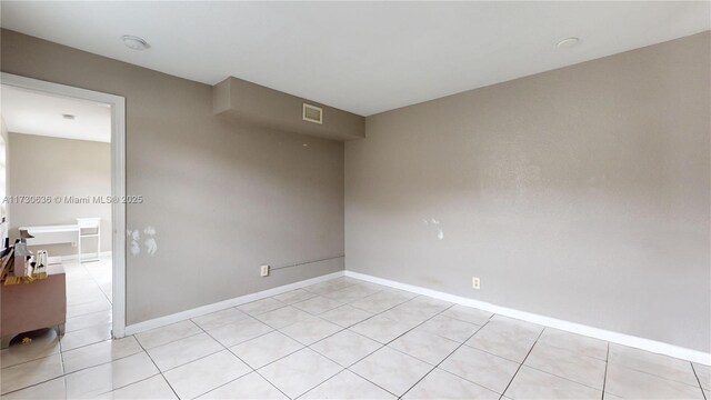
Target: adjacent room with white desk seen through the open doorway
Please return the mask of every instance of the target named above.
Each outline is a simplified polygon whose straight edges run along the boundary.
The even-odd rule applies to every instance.
[[[7,131],[3,203],[12,216],[8,236],[10,243],[22,238],[38,261],[38,252],[47,252],[50,287],[28,290],[27,296],[46,297],[51,303],[43,307],[48,314],[36,316],[34,321],[29,321],[27,312],[12,320],[8,314],[22,310],[27,298],[19,293],[3,297],[2,336],[8,341],[3,348],[12,339],[53,342],[56,332],[63,336],[62,348],[67,350],[110,339],[110,109],[103,103],[10,86],[0,88],[0,97]],[[56,276],[61,272],[66,278]],[[27,289],[34,287],[39,286],[28,284]],[[59,308],[50,312],[51,307]],[[59,322],[56,330],[17,334],[27,333],[27,323],[41,328],[50,321]]]

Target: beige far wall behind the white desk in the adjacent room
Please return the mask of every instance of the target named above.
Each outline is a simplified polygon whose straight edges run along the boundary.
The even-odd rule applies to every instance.
[[[33,134],[10,133],[9,196],[110,196],[111,144]],[[76,218],[101,218],[101,251],[111,251],[111,204],[71,204],[64,201],[10,204],[10,241],[19,227],[77,223]],[[84,253],[96,250],[96,239],[82,240]],[[76,254],[70,243],[32,247],[50,257]]]

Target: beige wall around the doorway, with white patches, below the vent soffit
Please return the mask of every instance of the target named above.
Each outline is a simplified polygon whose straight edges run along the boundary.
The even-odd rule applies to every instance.
[[[343,269],[343,143],[236,126],[212,88],[2,30],[3,72],[126,97],[129,230],[158,250],[127,259],[137,323]],[[304,146],[307,144],[307,146]],[[130,241],[129,241],[130,246]]]

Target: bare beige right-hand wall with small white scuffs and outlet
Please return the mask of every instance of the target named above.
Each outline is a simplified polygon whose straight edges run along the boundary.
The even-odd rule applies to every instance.
[[[708,352],[710,37],[369,117],[347,269]]]

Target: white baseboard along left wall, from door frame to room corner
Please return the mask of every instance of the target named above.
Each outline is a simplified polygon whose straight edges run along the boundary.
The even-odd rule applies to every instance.
[[[264,299],[264,298],[268,298],[268,297],[272,297],[272,296],[276,296],[276,294],[281,294],[281,293],[294,290],[294,289],[300,289],[300,288],[308,287],[308,286],[314,284],[314,283],[324,282],[324,281],[328,281],[328,280],[331,280],[331,279],[340,278],[342,276],[343,276],[343,271],[332,272],[332,273],[324,274],[324,276],[321,276],[321,277],[316,277],[316,278],[302,280],[302,281],[299,281],[299,282],[289,283],[289,284],[280,286],[280,287],[272,288],[272,289],[262,290],[260,292],[246,294],[246,296],[240,296],[238,298],[233,298],[233,299],[216,302],[216,303],[212,303],[212,304],[202,306],[202,307],[198,307],[198,308],[194,308],[194,309],[177,312],[174,314],[170,314],[170,316],[166,316],[166,317],[159,317],[159,318],[151,319],[151,320],[143,321],[143,322],[139,322],[139,323],[133,323],[133,324],[130,324],[130,326],[126,327],[124,333],[127,336],[140,333],[140,332],[143,332],[143,331],[147,331],[147,330],[151,330],[151,329],[164,327],[164,326],[168,326],[168,324],[171,324],[171,323],[184,321],[184,320],[190,319],[190,318],[196,318],[196,317],[209,314],[209,313],[217,312],[217,311],[220,311],[220,310],[224,310],[224,309],[228,309],[228,308],[231,308],[231,307],[244,304],[244,303],[248,303],[248,302],[251,302],[251,301],[261,300],[261,299]]]

